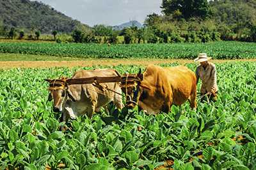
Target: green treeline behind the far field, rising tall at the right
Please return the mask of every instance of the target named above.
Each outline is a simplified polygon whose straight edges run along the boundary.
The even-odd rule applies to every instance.
[[[67,39],[76,43],[205,43],[209,41],[256,41],[256,0],[163,0],[163,15],[153,13],[145,18],[144,27],[127,27],[115,31],[111,26],[95,25],[76,28]],[[3,28],[3,27],[2,27]],[[13,38],[12,30],[1,29],[0,35]],[[2,32],[2,33],[1,33]],[[19,39],[22,31],[16,31]],[[38,31],[33,31],[38,39]],[[55,32],[57,34],[57,31]],[[31,33],[28,33],[31,38]],[[61,34],[58,33],[58,34]]]

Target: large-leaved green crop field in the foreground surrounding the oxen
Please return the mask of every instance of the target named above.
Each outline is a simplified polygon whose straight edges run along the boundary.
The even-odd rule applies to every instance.
[[[3,45],[8,47],[1,43],[1,50],[9,49]],[[26,52],[41,53],[26,45]],[[19,52],[19,46],[12,49]],[[54,53],[51,49],[56,46],[64,49],[65,45],[44,47]],[[74,49],[79,46],[86,45],[74,45]],[[212,54],[218,56],[218,52]],[[161,64],[170,65],[177,64]],[[186,65],[195,70],[195,64]],[[79,117],[67,123],[67,131],[60,131],[63,124],[57,120],[60,115],[52,112],[52,103],[47,103],[44,78],[95,67],[0,71],[0,169],[256,169],[256,62],[217,63],[218,101],[199,103],[196,111],[188,103],[181,110],[173,106],[172,112],[156,116],[109,106],[111,115],[101,110],[92,120]],[[111,67],[120,73],[143,68]]]

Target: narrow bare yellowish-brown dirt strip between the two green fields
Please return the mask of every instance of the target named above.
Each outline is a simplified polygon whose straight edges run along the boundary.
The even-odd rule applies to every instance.
[[[248,61],[256,62],[256,59],[239,59],[239,60],[211,60],[214,63]],[[0,69],[10,69],[16,67],[86,67],[86,66],[116,66],[123,65],[148,65],[148,64],[166,64],[179,62],[187,64],[193,60],[184,59],[90,59],[90,60],[74,60],[74,61],[0,61]]]

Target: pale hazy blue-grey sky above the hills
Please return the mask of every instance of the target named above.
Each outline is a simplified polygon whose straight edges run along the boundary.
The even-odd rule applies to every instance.
[[[161,0],[36,0],[49,4],[68,17],[93,26],[120,25],[130,20],[144,22],[151,13],[161,13]]]

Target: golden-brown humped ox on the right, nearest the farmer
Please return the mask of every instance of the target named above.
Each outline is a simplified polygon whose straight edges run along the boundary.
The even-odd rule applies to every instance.
[[[138,104],[147,113],[168,113],[173,104],[180,106],[187,100],[191,108],[196,108],[196,76],[188,67],[148,65],[137,77],[121,83],[128,108]]]

